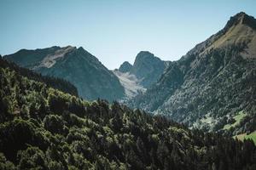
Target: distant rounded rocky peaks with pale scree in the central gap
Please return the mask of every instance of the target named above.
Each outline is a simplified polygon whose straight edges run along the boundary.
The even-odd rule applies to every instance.
[[[160,79],[170,61],[163,61],[148,51],[137,54],[134,64],[125,61],[113,73],[125,88],[125,101],[137,94],[144,93],[147,88]]]

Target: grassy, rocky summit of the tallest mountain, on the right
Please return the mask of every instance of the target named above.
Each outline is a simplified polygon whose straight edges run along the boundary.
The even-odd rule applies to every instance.
[[[203,55],[212,49],[241,48],[243,58],[256,56],[256,20],[244,12],[230,17],[224,28],[191,49],[187,55]],[[186,57],[186,56],[184,56]]]

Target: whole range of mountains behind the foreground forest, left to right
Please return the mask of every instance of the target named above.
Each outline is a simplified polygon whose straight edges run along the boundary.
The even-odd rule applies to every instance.
[[[141,51],[133,65],[125,61],[114,71],[72,46],[22,49],[3,58],[72,82],[84,99],[119,100],[189,127],[236,135],[256,129],[255,30],[256,20],[241,12],[177,61]]]

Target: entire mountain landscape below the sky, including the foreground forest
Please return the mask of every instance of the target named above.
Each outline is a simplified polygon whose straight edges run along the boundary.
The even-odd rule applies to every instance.
[[[109,71],[84,48],[21,49],[0,80],[0,169],[256,169],[245,13],[177,61],[141,51]]]

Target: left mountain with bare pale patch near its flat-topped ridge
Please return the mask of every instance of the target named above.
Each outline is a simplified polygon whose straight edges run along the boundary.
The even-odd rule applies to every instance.
[[[36,50],[21,49],[4,59],[43,75],[60,77],[72,82],[84,99],[120,99],[124,88],[112,71],[95,56],[84,50],[67,46]]]

